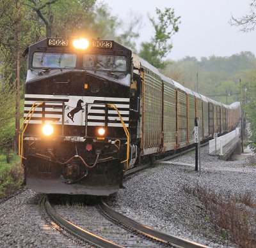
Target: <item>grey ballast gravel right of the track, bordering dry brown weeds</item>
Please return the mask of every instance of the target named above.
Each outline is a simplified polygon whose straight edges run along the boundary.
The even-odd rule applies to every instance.
[[[208,151],[208,146],[200,151],[201,173],[192,165],[195,151],[189,152],[131,175],[124,182],[125,188],[109,198],[108,204],[164,233],[209,247],[237,247],[221,238],[205,217],[202,203],[182,188],[199,186],[223,197],[250,192],[255,201],[256,166],[248,166],[248,159],[221,161]]]

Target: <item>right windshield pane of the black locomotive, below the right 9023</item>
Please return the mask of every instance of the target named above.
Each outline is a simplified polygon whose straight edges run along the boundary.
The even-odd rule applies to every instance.
[[[83,68],[102,69],[106,71],[127,71],[125,56],[118,55],[83,55]]]

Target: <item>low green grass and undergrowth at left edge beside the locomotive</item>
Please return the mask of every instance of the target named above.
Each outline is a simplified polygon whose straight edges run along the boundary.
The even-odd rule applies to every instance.
[[[6,163],[5,154],[0,154],[0,198],[12,194],[19,189],[24,180],[24,171],[20,159],[10,152],[10,163]]]

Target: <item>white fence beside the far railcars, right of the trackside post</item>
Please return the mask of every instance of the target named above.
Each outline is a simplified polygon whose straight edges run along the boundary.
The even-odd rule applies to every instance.
[[[239,128],[217,138],[216,141],[216,154],[223,156],[227,154],[239,140]],[[209,154],[215,154],[215,139],[209,142]]]

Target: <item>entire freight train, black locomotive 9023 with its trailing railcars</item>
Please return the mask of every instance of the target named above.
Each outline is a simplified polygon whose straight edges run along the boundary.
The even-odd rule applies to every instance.
[[[28,49],[20,133],[27,187],[109,195],[125,170],[235,128],[227,106],[182,87],[110,40],[46,38]]]

